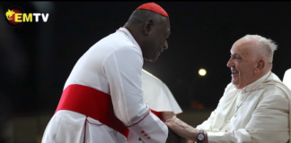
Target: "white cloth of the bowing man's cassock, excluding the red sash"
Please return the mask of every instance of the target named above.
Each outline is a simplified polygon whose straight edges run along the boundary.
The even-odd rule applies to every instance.
[[[162,143],[168,128],[145,105],[140,46],[128,29],[120,28],[93,45],[75,64],[64,89],[72,84],[84,85],[109,94],[114,113],[128,129],[145,142]],[[149,114],[148,114],[149,113]],[[84,128],[84,122],[88,122]],[[126,137],[101,122],[72,111],[53,115],[42,143],[126,143]],[[85,131],[84,131],[85,130]],[[85,133],[85,139],[84,139]]]

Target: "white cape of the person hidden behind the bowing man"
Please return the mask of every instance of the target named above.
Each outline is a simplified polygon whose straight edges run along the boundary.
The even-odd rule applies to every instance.
[[[142,89],[144,91],[145,104],[149,106],[152,113],[159,117],[163,122],[168,119],[176,118],[177,114],[181,114],[181,107],[178,105],[175,98],[172,96],[170,89],[163,83],[162,80],[154,77],[148,71],[142,70]],[[130,140],[136,143],[138,136],[129,132]]]

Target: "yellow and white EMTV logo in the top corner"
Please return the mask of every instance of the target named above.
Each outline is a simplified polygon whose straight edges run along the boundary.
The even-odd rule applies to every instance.
[[[5,13],[5,21],[8,25],[16,28],[22,26],[23,22],[32,22],[32,17],[34,17],[35,22],[39,22],[40,18],[47,22],[48,15],[48,13],[24,13],[21,7],[12,6]]]

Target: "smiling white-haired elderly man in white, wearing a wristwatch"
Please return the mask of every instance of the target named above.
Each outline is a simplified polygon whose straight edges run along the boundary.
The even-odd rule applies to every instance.
[[[232,82],[207,121],[193,128],[176,118],[167,126],[197,143],[290,143],[291,91],[271,71],[276,49],[258,35],[237,40],[227,63]]]

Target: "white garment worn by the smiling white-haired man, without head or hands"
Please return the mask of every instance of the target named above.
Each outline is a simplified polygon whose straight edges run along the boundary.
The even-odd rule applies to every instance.
[[[245,88],[230,83],[216,110],[198,129],[209,143],[287,143],[291,91],[269,71]]]

